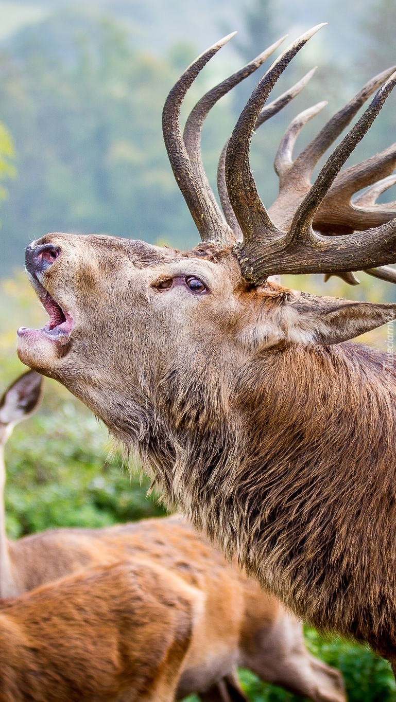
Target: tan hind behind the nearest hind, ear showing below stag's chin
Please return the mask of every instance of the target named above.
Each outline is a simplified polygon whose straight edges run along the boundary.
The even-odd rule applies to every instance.
[[[6,438],[11,435],[13,425],[30,416],[37,408],[41,385],[42,376],[29,371],[17,378],[0,399],[0,475],[3,488],[6,467],[1,453]],[[175,680],[179,671],[177,688],[174,688],[177,699],[199,693],[203,702],[245,701],[236,675],[236,665],[243,665],[263,680],[282,685],[312,702],[345,702],[340,673],[308,653],[300,621],[274,597],[262,592],[255,581],[238,569],[236,563],[227,564],[222,553],[210,548],[207,540],[181,517],[146,519],[106,529],[51,529],[11,541],[6,536],[4,495],[0,494],[0,547],[1,597],[22,595],[63,578],[59,588],[51,585],[39,600],[34,596],[28,601],[39,609],[42,607],[43,611],[52,602],[59,612],[67,590],[74,611],[72,636],[87,642],[87,651],[92,656],[87,667],[91,671],[96,670],[96,652],[89,647],[91,635],[87,634],[86,620],[78,617],[78,607],[87,597],[90,602],[91,586],[93,584],[96,588],[99,581],[101,585],[98,586],[96,598],[103,600],[101,607],[106,612],[107,608],[112,612],[107,600],[120,595],[120,590],[123,590],[127,602],[132,595],[129,565],[137,568],[139,576],[142,576],[139,564],[143,562],[145,568],[162,569],[156,590],[159,594],[162,585],[164,600],[171,590],[181,598],[187,591],[191,610],[195,612],[190,624],[191,633],[185,640],[185,654],[172,663]],[[117,568],[115,564],[121,565]],[[113,569],[109,567],[111,565]],[[93,568],[96,569],[94,577],[89,575]],[[77,573],[82,577],[71,577]],[[70,577],[65,579],[65,576]],[[25,600],[15,601],[12,612],[21,611],[20,602]],[[94,621],[95,610],[89,602],[85,607],[90,621]],[[144,604],[142,597],[141,607]],[[150,606],[149,597],[146,604]],[[129,611],[132,613],[132,609]],[[135,614],[139,614],[139,608],[136,608]],[[112,617],[113,614],[110,614]],[[1,621],[0,606],[0,637]],[[24,621],[18,621],[23,627]],[[172,635],[177,640],[178,622],[178,619],[173,622],[173,632],[167,631],[167,641],[172,641]],[[167,620],[166,626],[169,627],[169,624]],[[163,636],[162,625],[161,620],[153,623],[153,644],[155,632],[158,639]],[[30,635],[38,637],[34,629],[30,630]],[[3,641],[8,650],[11,640]],[[49,667],[52,662],[45,658],[44,649],[41,649],[41,656],[44,656]],[[20,665],[20,658],[18,660]],[[65,670],[60,666],[60,680],[70,673],[65,673],[71,665],[68,657],[63,663]],[[15,670],[21,672],[21,668]],[[113,680],[117,688],[110,659],[106,657],[101,658],[101,675],[105,670],[108,679]],[[99,685],[103,681],[101,675],[97,678]],[[79,676],[75,674],[75,677],[77,679]],[[120,686],[125,679],[122,673]],[[44,699],[42,688],[37,694]],[[91,689],[93,694],[94,690]]]

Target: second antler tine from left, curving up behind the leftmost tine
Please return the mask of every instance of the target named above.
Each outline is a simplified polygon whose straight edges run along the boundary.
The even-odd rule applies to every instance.
[[[222,212],[219,210],[219,206],[215,199],[215,195],[213,194],[209,182],[207,180],[200,152],[200,137],[202,133],[203,122],[205,121],[208,112],[210,112],[210,110],[216,104],[216,102],[220,100],[220,98],[222,98],[224,95],[226,95],[226,93],[228,93],[232,88],[238,85],[238,83],[241,83],[241,81],[243,81],[253,72],[255,72],[255,70],[257,70],[257,68],[259,68],[272,53],[274,53],[276,48],[278,48],[278,46],[280,46],[280,44],[285,39],[286,37],[282,37],[281,39],[276,41],[274,44],[272,44],[272,46],[269,46],[264,51],[262,51],[262,53],[260,53],[260,55],[253,59],[253,61],[250,61],[250,63],[238,70],[232,76],[222,81],[222,83],[215,86],[215,88],[212,88],[212,90],[205,93],[205,95],[203,95],[203,98],[201,98],[199,102],[197,102],[196,106],[193,108],[193,110],[189,114],[189,117],[186,120],[186,125],[184,127],[183,133],[183,140],[186,146],[186,151],[189,154],[189,158],[195,170],[196,177],[200,181],[200,187],[204,192],[207,192],[207,197],[209,197],[212,202],[212,208],[214,208],[217,211],[219,218],[222,218]],[[236,225],[236,232],[234,232],[234,234],[238,234],[239,225],[236,222],[235,218],[232,224]],[[231,230],[234,230],[234,227],[230,223],[229,225],[231,226]],[[231,237],[231,232],[229,232],[229,234],[230,240],[224,243],[232,244],[236,241],[236,238]]]

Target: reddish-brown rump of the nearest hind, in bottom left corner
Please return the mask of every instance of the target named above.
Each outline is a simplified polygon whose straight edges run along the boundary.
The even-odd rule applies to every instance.
[[[115,564],[0,607],[1,702],[172,702],[193,598],[153,564]]]

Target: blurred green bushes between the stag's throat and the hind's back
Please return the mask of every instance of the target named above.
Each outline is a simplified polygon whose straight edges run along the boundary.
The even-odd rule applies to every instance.
[[[77,402],[15,428],[6,449],[6,512],[13,538],[51,527],[106,527],[163,515],[139,466],[106,451],[107,432]]]

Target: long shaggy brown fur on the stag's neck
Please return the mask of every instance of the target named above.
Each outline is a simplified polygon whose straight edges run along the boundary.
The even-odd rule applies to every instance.
[[[215,401],[195,373],[165,378],[138,450],[167,501],[288,607],[392,658],[396,376],[384,359],[287,344],[234,369]]]

